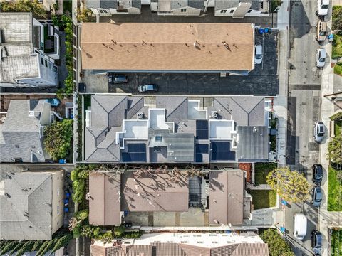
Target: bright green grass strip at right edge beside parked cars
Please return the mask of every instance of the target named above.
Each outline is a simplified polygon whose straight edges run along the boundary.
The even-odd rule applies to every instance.
[[[329,166],[328,174],[328,210],[342,210],[342,186],[337,178],[337,170]]]

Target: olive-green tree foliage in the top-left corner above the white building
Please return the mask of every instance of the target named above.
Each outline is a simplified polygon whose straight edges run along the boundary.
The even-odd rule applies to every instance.
[[[3,1],[0,12],[31,12],[35,18],[47,18],[43,4],[38,0]]]

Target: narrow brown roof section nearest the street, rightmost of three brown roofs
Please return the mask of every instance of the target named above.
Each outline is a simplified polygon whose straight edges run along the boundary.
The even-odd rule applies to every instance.
[[[244,171],[209,172],[209,223],[241,225],[244,210]]]

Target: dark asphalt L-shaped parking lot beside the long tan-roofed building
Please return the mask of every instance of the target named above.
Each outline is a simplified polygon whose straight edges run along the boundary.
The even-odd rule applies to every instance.
[[[220,77],[218,73],[126,73],[128,83],[108,84],[108,92],[135,94],[138,93],[139,85],[156,84],[159,94],[276,95],[279,92],[276,37],[276,32],[256,34],[255,42],[263,46],[263,62],[255,65],[247,76]],[[88,92],[95,92],[94,86],[101,86],[98,92],[103,92],[103,78],[100,79],[101,82],[94,80],[92,89]]]

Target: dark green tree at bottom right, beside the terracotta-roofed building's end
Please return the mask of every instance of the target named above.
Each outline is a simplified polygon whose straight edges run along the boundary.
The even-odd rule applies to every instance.
[[[271,256],[294,256],[289,245],[281,238],[277,230],[269,228],[261,233],[260,238],[269,245]]]

